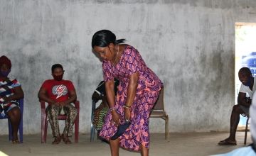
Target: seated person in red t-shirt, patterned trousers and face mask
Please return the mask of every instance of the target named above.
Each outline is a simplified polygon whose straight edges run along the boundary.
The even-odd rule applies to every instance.
[[[75,117],[78,113],[76,108],[71,104],[77,98],[75,87],[72,82],[63,79],[64,70],[62,65],[55,64],[51,69],[53,79],[43,82],[38,92],[38,98],[49,104],[46,112],[53,130],[53,137],[55,138],[53,144],[60,143],[61,139],[63,139],[65,144],[70,144],[71,141],[68,137],[72,136]],[[60,135],[58,125],[58,115],[61,111],[64,111],[67,115],[62,135]]]

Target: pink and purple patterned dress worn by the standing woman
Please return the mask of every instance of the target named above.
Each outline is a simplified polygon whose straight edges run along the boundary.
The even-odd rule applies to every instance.
[[[124,122],[124,106],[127,98],[129,75],[139,72],[139,84],[132,104],[131,125],[120,139],[120,146],[129,150],[139,150],[140,145],[149,148],[149,113],[159,96],[162,83],[154,72],[146,67],[139,52],[130,45],[124,49],[117,65],[104,60],[102,64],[105,81],[117,78],[119,87],[114,107],[117,109]],[[105,124],[100,131],[100,136],[106,140],[117,132],[117,127],[112,123],[112,114],[107,113]]]

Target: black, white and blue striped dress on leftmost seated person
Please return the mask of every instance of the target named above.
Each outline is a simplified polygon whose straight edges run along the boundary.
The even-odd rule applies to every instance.
[[[0,79],[0,113],[4,117],[11,108],[18,106],[18,101],[4,101],[4,97],[9,97],[14,94],[14,88],[19,87],[21,84],[16,79],[6,78]],[[19,106],[18,106],[19,108]]]

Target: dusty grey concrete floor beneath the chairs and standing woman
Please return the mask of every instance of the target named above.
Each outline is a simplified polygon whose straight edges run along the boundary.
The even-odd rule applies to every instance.
[[[238,147],[243,147],[244,132],[237,133],[236,146],[219,146],[218,141],[228,137],[228,133],[171,133],[170,142],[164,140],[164,134],[151,133],[151,144],[149,155],[151,156],[169,156],[169,155],[215,155],[223,152],[229,152]],[[13,145],[8,140],[7,135],[0,135],[0,151],[6,155],[92,155],[105,156],[110,155],[110,147],[107,143],[95,140],[90,143],[89,134],[80,134],[79,143],[65,145],[63,142],[59,145],[52,145],[50,134],[47,143],[41,144],[41,135],[24,135],[23,143]],[[247,136],[247,145],[252,143],[250,132]],[[1,154],[0,155],[3,155]],[[120,149],[120,156],[140,155],[138,152],[129,152]]]

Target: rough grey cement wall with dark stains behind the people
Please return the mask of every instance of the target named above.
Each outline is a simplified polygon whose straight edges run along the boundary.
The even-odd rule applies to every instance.
[[[102,80],[90,44],[101,29],[126,38],[164,82],[171,132],[228,130],[235,22],[255,22],[255,6],[254,0],[0,1],[0,52],[11,58],[11,74],[25,93],[24,133],[41,132],[37,93],[55,63],[76,87],[80,133],[90,132],[90,98]],[[151,119],[151,132],[164,132],[163,124]],[[6,121],[0,131],[8,133]]]

